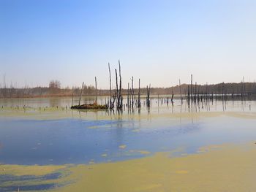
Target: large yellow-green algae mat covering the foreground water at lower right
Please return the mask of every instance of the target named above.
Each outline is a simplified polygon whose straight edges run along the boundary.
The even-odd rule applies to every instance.
[[[71,183],[49,191],[256,191],[254,143],[209,148],[204,153],[174,158],[170,153],[156,153],[128,161],[69,165],[64,169],[70,174],[55,182]],[[4,166],[27,174],[24,166]],[[37,169],[34,174],[49,172],[48,166],[31,167]],[[53,172],[63,169],[56,167]]]

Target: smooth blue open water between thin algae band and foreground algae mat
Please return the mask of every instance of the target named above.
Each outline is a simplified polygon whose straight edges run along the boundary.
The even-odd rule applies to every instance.
[[[85,120],[86,112],[80,114],[81,119],[0,118],[0,142],[4,145],[0,149],[0,161],[5,164],[88,164],[91,159],[119,161],[145,155],[130,153],[131,150],[152,154],[184,147],[186,153],[195,153],[203,145],[255,139],[255,119],[198,118],[194,113],[191,121],[189,118],[150,118],[150,114],[148,118],[131,114],[128,119],[120,112],[118,118]],[[120,149],[121,145],[127,147]]]

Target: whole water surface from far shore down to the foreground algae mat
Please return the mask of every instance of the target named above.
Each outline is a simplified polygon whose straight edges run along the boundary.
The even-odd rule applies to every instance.
[[[213,101],[200,109],[158,101],[140,112],[95,112],[69,110],[70,98],[0,100],[0,162],[92,164],[255,139],[255,101]]]

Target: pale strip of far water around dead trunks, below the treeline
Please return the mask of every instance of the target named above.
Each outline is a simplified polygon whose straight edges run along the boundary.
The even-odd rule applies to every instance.
[[[248,110],[254,110],[255,111],[255,101],[245,99],[242,100],[217,100],[217,99],[211,99],[208,101],[197,101],[194,102],[188,102],[187,101],[181,101],[180,99],[174,99],[173,102],[170,105],[170,102],[168,101],[169,96],[162,96],[162,98],[154,97],[151,98],[151,107],[150,110],[169,110],[171,109],[171,112],[175,112],[175,109],[177,106],[182,107],[182,112],[200,112],[200,111],[211,111],[214,109],[219,110],[230,110],[231,107],[239,108],[241,111],[248,111]],[[79,99],[77,97],[74,98],[74,104],[76,104],[76,101]],[[107,104],[109,98],[108,96],[99,96],[99,101],[102,102],[102,104]],[[83,96],[84,103],[89,104],[94,102],[93,96]],[[126,99],[124,98],[124,101]],[[145,98],[142,98],[143,106],[140,110],[147,110],[146,109],[146,101]],[[215,106],[214,106],[215,101]],[[0,99],[0,105],[2,108],[4,107],[11,107],[13,109],[25,109],[26,108],[32,108],[32,109],[45,109],[45,108],[56,108],[56,109],[63,109],[67,110],[71,107],[72,98],[70,97],[50,97],[50,98],[28,98],[28,99]],[[254,103],[254,104],[253,104]],[[125,105],[125,104],[124,104]],[[221,107],[221,108],[219,108]],[[127,110],[128,108],[124,108],[124,110]],[[134,109],[131,109],[134,110]],[[136,109],[138,110],[138,109]]]

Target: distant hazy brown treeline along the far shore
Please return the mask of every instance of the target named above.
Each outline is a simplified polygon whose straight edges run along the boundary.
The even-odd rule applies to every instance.
[[[26,97],[48,97],[48,96],[78,96],[80,95],[80,88],[60,88],[59,82],[49,87],[36,87],[36,88],[14,88],[14,87],[1,87],[0,98],[26,98]],[[151,88],[151,94],[182,94],[187,95],[188,88],[191,89],[190,84],[182,84],[170,88]],[[227,94],[256,94],[256,82],[240,82],[240,83],[219,83],[214,85],[192,85],[194,93],[227,93]],[[122,89],[123,95],[127,93],[127,89]],[[135,94],[138,89],[135,88]],[[146,88],[140,88],[141,94],[146,94]],[[83,96],[94,96],[95,88],[92,85],[83,86]],[[98,95],[109,95],[110,91],[105,89],[97,90]],[[115,90],[112,90],[115,95]]]

